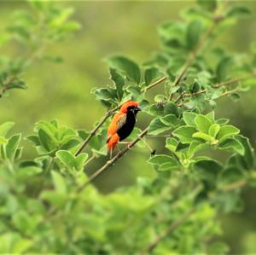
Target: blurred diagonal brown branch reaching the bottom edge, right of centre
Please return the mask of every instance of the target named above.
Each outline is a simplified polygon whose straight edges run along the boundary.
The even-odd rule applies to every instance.
[[[154,248],[166,238],[167,235],[170,235],[177,227],[179,227],[186,219],[188,219],[192,214],[195,213],[195,208],[190,209],[188,212],[185,212],[181,217],[177,218],[177,220],[171,223],[167,229],[158,235],[154,241],[142,252],[143,254],[152,252]]]

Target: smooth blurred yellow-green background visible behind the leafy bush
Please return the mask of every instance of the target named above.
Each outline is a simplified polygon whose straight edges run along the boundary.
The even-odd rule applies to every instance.
[[[15,121],[15,130],[24,136],[31,134],[34,123],[39,119],[59,119],[61,125],[90,130],[100,119],[105,109],[90,94],[93,87],[110,83],[108,67],[102,61],[106,55],[119,53],[142,63],[160,48],[157,26],[166,20],[180,19],[179,13],[194,4],[194,1],[66,1],[73,6],[74,20],[82,24],[82,29],[73,38],[50,47],[49,54],[61,55],[64,62],[53,64],[42,61],[33,65],[25,78],[29,89],[14,90],[10,96],[0,101],[0,123]],[[256,2],[242,1],[252,9],[249,19],[241,20],[235,27],[224,32],[218,39],[230,51],[247,52],[250,43],[256,41]],[[231,3],[232,4],[232,3]],[[22,1],[0,2],[0,30],[9,24],[15,9],[27,9]],[[0,49],[0,55],[19,56],[23,49],[20,44],[11,43]],[[155,95],[154,89],[150,94]],[[150,94],[149,97],[150,98]],[[217,115],[229,118],[233,125],[248,136],[255,148],[256,134],[256,86],[241,96],[241,101],[233,103],[230,98],[219,101]],[[141,113],[137,125],[144,127],[148,117]],[[149,140],[160,153],[164,144],[158,139]],[[34,149],[29,143],[24,154],[32,158]],[[148,152],[137,148],[121,159],[109,171],[102,174],[96,186],[102,192],[135,183],[138,176],[154,176],[147,164]],[[98,159],[89,165],[89,172],[102,165],[106,159]],[[256,192],[243,192],[244,211],[229,216],[220,216],[224,227],[224,241],[231,247],[232,254],[256,253]]]

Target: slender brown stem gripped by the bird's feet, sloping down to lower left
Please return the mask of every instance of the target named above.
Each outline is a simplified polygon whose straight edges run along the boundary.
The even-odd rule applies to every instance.
[[[137,136],[136,139],[134,139],[126,148],[124,148],[123,150],[121,150],[118,154],[116,154],[113,159],[109,160],[105,165],[103,165],[99,170],[97,170],[94,174],[92,174],[86,183],[84,183],[82,186],[80,186],[77,189],[77,192],[81,192],[84,190],[84,188],[91,183],[94,179],[96,179],[96,177],[98,177],[99,175],[102,174],[103,171],[107,170],[111,165],[113,165],[114,162],[116,162],[118,159],[120,159],[126,152],[128,152],[133,146],[135,146],[135,144],[137,142],[139,142],[141,140],[141,138],[143,138],[143,136],[145,136],[148,132],[148,128],[146,128],[145,130],[143,130],[143,132]]]

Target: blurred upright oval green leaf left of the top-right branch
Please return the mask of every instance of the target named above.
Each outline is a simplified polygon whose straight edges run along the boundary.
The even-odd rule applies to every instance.
[[[187,28],[187,47],[194,49],[199,42],[201,36],[202,26],[199,20],[192,20]]]

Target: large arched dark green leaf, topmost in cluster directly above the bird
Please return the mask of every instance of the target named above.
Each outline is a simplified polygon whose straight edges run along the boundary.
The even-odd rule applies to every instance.
[[[141,71],[134,61],[131,61],[130,59],[121,55],[109,56],[106,61],[113,69],[117,69],[124,73],[127,78],[131,79],[137,84],[140,83]]]

